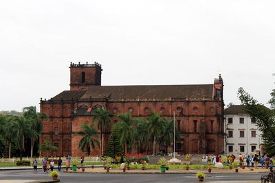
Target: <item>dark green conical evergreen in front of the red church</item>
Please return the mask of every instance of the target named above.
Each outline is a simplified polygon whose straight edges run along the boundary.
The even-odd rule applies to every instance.
[[[106,147],[106,156],[115,158],[115,156],[122,156],[123,148],[120,143],[120,132],[117,125],[113,125],[111,131],[111,139]]]

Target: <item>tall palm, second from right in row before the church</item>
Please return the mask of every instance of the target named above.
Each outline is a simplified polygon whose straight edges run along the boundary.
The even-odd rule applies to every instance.
[[[151,111],[149,112],[148,117],[146,118],[149,122],[148,130],[151,138],[153,138],[153,154],[156,152],[156,142],[157,138],[164,132],[164,124],[163,121],[160,120],[160,113]]]

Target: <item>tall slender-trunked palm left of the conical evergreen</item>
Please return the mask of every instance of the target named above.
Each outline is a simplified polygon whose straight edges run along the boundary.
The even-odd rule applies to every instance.
[[[111,115],[111,111],[106,110],[104,108],[96,108],[92,113],[94,115],[94,118],[92,119],[92,122],[98,121],[98,129],[100,130],[100,156],[102,155],[102,128],[108,128],[111,126],[111,118],[109,117]]]

